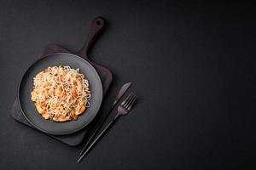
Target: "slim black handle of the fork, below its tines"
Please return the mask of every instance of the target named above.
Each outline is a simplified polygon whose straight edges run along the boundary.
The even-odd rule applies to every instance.
[[[108,132],[110,127],[113,126],[113,124],[118,120],[118,118],[119,118],[119,113],[113,118],[113,120],[111,122],[108,123],[108,125],[102,130],[102,132],[99,133],[99,135],[96,137],[96,139],[93,140],[93,142],[90,144],[90,146],[87,148],[87,150],[85,150],[84,153],[80,156],[79,161],[81,161],[84,158],[84,156],[86,156],[89,153],[89,151],[92,149],[92,147]]]

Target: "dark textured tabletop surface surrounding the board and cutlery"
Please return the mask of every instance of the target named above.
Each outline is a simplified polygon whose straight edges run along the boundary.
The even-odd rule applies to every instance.
[[[255,169],[255,4],[0,1],[0,169]],[[20,77],[47,43],[91,51],[139,96],[80,164],[68,147],[15,122]],[[255,86],[254,86],[255,88]],[[253,103],[254,100],[254,103]],[[253,105],[254,104],[254,105]]]

